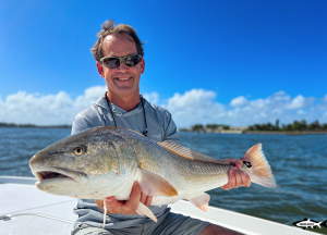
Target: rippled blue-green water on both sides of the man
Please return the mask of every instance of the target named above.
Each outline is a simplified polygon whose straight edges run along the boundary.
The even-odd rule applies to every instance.
[[[68,128],[0,128],[0,175],[33,176],[28,161],[48,145],[70,136]],[[291,225],[327,220],[327,135],[232,135],[180,133],[181,144],[217,159],[241,158],[262,143],[278,188],[252,184],[210,190],[210,206]],[[327,234],[327,228],[314,230]]]

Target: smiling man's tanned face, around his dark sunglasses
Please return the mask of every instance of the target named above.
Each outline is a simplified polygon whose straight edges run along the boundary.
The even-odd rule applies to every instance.
[[[102,44],[105,57],[125,57],[137,54],[136,45],[128,34],[109,35]],[[133,96],[140,94],[138,83],[144,72],[145,62],[126,66],[123,62],[118,69],[109,69],[97,62],[98,72],[105,77],[108,91],[114,96]]]

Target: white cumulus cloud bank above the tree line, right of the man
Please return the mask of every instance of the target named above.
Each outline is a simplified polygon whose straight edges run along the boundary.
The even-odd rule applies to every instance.
[[[234,126],[252,125],[255,123],[291,123],[305,119],[308,122],[319,120],[327,122],[322,112],[327,111],[327,104],[316,102],[313,97],[301,95],[291,98],[284,91],[278,91],[266,98],[247,100],[237,97],[230,106],[216,101],[217,94],[210,90],[192,89],[185,94],[175,94],[165,104],[179,127],[189,127],[196,123],[230,124]],[[327,113],[327,112],[326,112]]]

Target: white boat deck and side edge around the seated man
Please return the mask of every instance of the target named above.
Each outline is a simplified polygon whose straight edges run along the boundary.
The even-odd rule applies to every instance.
[[[0,234],[58,235],[70,234],[76,215],[76,199],[38,190],[32,177],[0,176]],[[250,235],[313,234],[292,226],[209,207],[203,212],[187,201],[170,205],[182,213]],[[9,220],[9,221],[7,221]]]

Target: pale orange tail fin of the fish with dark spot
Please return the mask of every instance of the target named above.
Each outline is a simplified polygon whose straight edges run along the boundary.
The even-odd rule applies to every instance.
[[[252,182],[266,187],[277,187],[270,165],[263,152],[262,144],[257,144],[249,149],[241,160],[251,162],[251,172],[246,172],[249,173]],[[243,164],[242,170],[244,168],[247,166]]]

